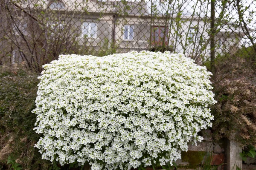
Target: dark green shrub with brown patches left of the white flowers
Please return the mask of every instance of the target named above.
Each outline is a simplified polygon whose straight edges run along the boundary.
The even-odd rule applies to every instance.
[[[8,157],[23,169],[47,169],[34,147],[40,136],[35,133],[35,108],[38,74],[23,67],[0,66],[0,169],[8,169]],[[9,167],[10,168],[10,167]],[[49,169],[49,168],[48,168]]]

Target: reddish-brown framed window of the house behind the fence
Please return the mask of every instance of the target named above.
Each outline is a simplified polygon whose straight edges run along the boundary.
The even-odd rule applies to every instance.
[[[165,31],[166,29],[166,31]],[[165,45],[168,44],[168,29],[164,26],[154,26],[151,35],[151,42],[153,45],[162,45],[163,38]]]

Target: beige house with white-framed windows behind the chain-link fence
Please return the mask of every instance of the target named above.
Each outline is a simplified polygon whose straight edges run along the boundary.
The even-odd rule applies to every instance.
[[[1,31],[9,37],[1,42],[5,45],[0,45],[5,48],[1,62],[25,60],[30,65],[39,63],[40,67],[59,54],[97,54],[110,48],[116,52],[142,51],[159,46],[172,47],[174,52],[194,59],[209,56],[209,20],[204,15],[184,7],[165,10],[165,1],[152,2],[156,12],[144,0],[12,2],[15,20],[6,18],[11,23],[6,29],[9,31]],[[243,36],[242,30],[223,26],[216,34],[216,50],[227,50]]]

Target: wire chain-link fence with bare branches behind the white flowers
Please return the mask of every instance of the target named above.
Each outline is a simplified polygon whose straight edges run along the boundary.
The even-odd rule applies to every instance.
[[[256,63],[255,0],[0,0],[0,65],[41,72],[60,54],[172,51]]]

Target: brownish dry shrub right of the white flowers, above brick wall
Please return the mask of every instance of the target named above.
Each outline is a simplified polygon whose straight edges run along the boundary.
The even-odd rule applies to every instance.
[[[242,147],[256,146],[256,77],[247,59],[235,54],[216,65],[213,79],[215,139],[236,139]]]

